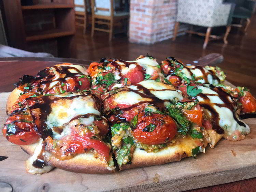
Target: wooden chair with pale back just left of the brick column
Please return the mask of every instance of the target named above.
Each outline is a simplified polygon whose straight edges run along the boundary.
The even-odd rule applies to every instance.
[[[127,32],[129,12],[126,10],[116,10],[115,5],[118,5],[118,2],[119,1],[116,0],[91,0],[91,37],[94,36],[95,30],[104,31],[109,33],[109,41],[111,41],[113,36],[113,27],[118,23],[121,23],[124,31]],[[95,27],[96,24],[97,27]],[[100,26],[107,26],[107,28],[100,28]]]

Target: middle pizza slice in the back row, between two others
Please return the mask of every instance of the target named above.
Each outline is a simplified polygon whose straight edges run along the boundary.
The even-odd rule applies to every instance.
[[[114,88],[137,84],[144,79],[160,79],[163,77],[160,65],[152,56],[140,56],[134,61],[101,58],[88,68],[92,77],[93,89],[107,92]]]

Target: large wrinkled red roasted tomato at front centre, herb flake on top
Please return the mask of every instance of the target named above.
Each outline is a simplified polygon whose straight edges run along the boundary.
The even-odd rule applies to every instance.
[[[158,145],[171,141],[176,132],[176,124],[170,116],[152,114],[138,117],[137,128],[132,135],[143,144]]]

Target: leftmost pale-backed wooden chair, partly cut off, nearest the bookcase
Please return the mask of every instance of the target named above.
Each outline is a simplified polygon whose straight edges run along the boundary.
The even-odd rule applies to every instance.
[[[83,27],[86,33],[87,24],[91,23],[91,1],[90,0],[74,0],[75,3],[75,24]],[[81,22],[82,21],[82,22]]]

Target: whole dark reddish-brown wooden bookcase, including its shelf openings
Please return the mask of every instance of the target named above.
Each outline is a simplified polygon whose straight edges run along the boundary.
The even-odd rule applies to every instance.
[[[1,6],[9,46],[76,58],[73,0],[33,0],[28,6],[20,0],[2,0]]]

